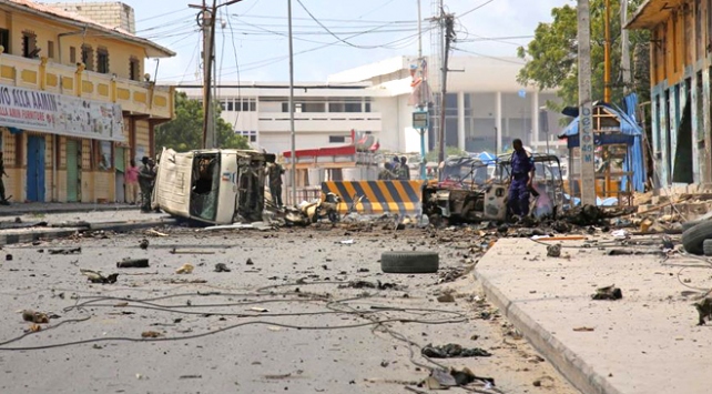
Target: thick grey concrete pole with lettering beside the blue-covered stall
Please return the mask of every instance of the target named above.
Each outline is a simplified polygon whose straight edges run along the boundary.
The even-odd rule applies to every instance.
[[[578,0],[579,41],[579,149],[581,203],[596,206],[596,169],[591,103],[591,10],[589,0]]]

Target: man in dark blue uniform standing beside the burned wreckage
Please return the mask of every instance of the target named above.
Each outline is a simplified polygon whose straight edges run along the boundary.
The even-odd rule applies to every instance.
[[[520,139],[512,141],[515,152],[511,154],[511,178],[507,204],[513,215],[529,214],[529,190],[535,175],[533,160],[523,148]]]

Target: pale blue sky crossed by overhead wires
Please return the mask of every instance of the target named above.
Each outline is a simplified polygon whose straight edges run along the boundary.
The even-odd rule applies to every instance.
[[[123,0],[135,10],[136,34],[176,52],[157,63],[159,81],[191,83],[202,72],[197,10],[189,8],[189,1]],[[218,0],[222,2],[225,0]],[[430,18],[434,0],[420,2],[423,19]],[[220,8],[220,82],[288,81],[287,3],[242,0]],[[551,9],[563,4],[576,7],[573,0],[445,0],[446,11],[456,17],[457,50],[452,54],[513,57],[540,22],[551,21]],[[417,6],[418,0],[292,0],[295,80],[326,81],[329,74],[358,65],[416,55]],[[426,55],[431,52],[429,29],[430,22],[425,21]],[[154,60],[146,62],[146,72],[154,75],[155,69]]]

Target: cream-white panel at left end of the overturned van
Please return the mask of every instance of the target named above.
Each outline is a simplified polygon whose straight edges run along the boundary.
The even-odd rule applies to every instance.
[[[193,152],[163,149],[153,191],[154,203],[166,213],[190,218]]]

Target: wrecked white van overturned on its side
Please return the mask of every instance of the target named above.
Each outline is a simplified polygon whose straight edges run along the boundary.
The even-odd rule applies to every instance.
[[[211,224],[261,221],[265,169],[274,161],[274,154],[248,150],[179,153],[164,148],[156,163],[152,205]]]

